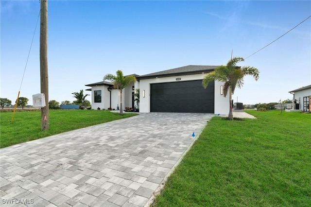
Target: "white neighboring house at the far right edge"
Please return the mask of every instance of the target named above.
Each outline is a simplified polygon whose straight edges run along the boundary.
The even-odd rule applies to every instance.
[[[310,112],[311,85],[289,91],[289,93],[294,95],[294,100],[296,100],[296,103],[299,104],[299,110]]]

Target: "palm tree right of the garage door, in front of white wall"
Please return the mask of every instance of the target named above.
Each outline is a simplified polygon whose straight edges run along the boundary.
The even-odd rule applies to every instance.
[[[243,86],[243,78],[245,75],[252,75],[255,81],[259,79],[258,69],[250,66],[237,66],[237,63],[242,61],[244,61],[244,58],[242,57],[233,57],[228,61],[226,66],[219,66],[214,71],[207,73],[202,81],[204,88],[207,88],[209,82],[215,80],[225,83],[224,96],[226,97],[227,93],[229,92],[229,120],[233,120],[232,95],[234,93],[235,87],[237,86],[241,88]]]

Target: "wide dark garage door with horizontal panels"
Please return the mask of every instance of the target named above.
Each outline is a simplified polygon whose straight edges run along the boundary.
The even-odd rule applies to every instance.
[[[214,113],[214,82],[202,80],[151,84],[151,112]]]

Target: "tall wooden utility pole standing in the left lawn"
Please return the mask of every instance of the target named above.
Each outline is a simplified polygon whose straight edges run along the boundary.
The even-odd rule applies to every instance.
[[[40,86],[46,106],[41,108],[41,130],[49,129],[49,75],[48,75],[48,0],[40,2]]]

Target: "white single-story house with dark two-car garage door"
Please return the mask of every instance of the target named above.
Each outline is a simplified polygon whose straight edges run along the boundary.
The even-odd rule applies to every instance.
[[[146,75],[134,76],[137,82],[124,88],[123,109],[137,107],[134,102],[135,89],[139,88],[139,112],[213,113],[228,115],[229,96],[224,97],[224,83],[210,82],[202,86],[204,76],[218,66],[184,66]],[[87,84],[92,91],[92,108],[117,109],[120,92],[113,84],[102,81]]]

